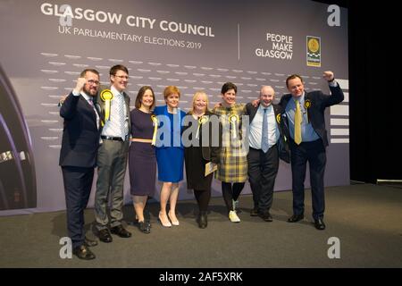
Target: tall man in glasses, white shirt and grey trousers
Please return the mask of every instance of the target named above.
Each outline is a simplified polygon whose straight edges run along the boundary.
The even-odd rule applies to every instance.
[[[110,69],[109,75],[111,87],[100,90],[96,97],[103,129],[101,145],[97,152],[95,217],[97,235],[103,242],[113,241],[110,232],[121,238],[131,236],[121,225],[130,134],[130,97],[124,92],[129,80],[129,71],[125,66],[118,64]],[[107,215],[109,198],[112,203],[110,219]]]

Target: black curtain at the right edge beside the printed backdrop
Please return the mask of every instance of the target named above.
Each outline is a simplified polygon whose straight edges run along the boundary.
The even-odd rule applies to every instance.
[[[348,8],[350,179],[402,180],[402,13],[390,1],[317,2]]]

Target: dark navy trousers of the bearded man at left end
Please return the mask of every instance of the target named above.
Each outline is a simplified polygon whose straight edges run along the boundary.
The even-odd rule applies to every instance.
[[[65,204],[67,206],[67,230],[72,247],[84,243],[84,209],[88,205],[94,179],[94,168],[62,167]]]

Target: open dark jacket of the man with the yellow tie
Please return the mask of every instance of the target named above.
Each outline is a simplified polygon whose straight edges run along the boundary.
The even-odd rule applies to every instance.
[[[305,102],[306,100],[310,101],[310,107],[307,109],[308,121],[311,122],[315,132],[317,132],[318,136],[320,136],[322,139],[324,147],[328,146],[327,130],[325,129],[325,108],[331,105],[337,105],[344,99],[344,95],[342,89],[339,87],[339,84],[336,87],[330,87],[330,89],[331,96],[323,94],[321,90],[316,90],[305,94]],[[281,102],[279,105],[282,107],[282,116],[285,114],[286,105],[288,105],[291,97],[291,94],[281,97]],[[289,137],[289,122],[287,120],[285,122],[287,124],[286,130]]]

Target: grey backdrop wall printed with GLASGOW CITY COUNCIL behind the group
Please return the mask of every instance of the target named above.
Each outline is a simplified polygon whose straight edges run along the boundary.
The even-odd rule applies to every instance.
[[[219,102],[226,81],[238,85],[238,100],[244,103],[255,99],[262,85],[271,85],[278,100],[287,93],[291,73],[304,77],[307,90],[329,92],[322,71],[334,71],[346,98],[326,114],[331,143],[325,185],[348,184],[348,13],[339,8],[339,26],[329,24],[333,15],[328,4],[291,0],[2,1],[0,63],[28,126],[32,153],[22,161],[35,166],[36,187],[30,191],[37,200],[35,206],[15,205],[18,209],[0,215],[65,208],[58,166],[63,120],[57,103],[84,68],[96,68],[107,84],[116,63],[130,70],[132,105],[143,85],[154,88],[157,105],[163,105],[163,88],[176,85],[184,110],[197,89],[205,89],[212,105]],[[1,148],[0,153],[7,151]],[[5,186],[11,169],[0,171],[0,186]],[[129,202],[128,173],[126,179]],[[160,185],[155,189],[157,198]],[[221,196],[220,189],[214,181],[213,196]],[[291,189],[289,165],[281,163],[275,189]],[[15,200],[18,191],[3,187],[0,198]],[[248,186],[244,192],[250,192]],[[193,198],[185,182],[180,198]],[[3,209],[15,207],[11,202]]]

